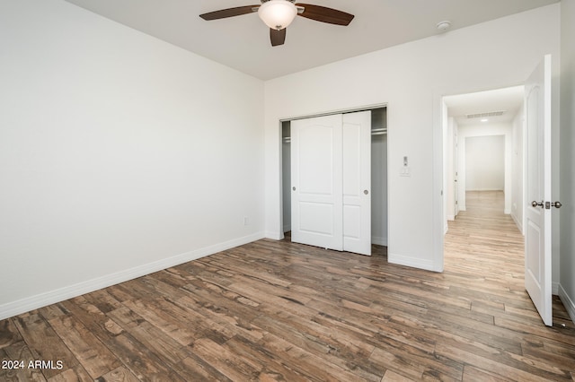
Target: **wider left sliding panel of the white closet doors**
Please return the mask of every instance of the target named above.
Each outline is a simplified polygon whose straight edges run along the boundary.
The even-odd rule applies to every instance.
[[[293,242],[343,250],[341,115],[291,122]]]

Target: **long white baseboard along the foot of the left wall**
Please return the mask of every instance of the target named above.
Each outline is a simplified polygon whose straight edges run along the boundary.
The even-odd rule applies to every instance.
[[[232,239],[223,243],[215,244],[213,246],[195,249],[190,252],[168,257],[153,263],[138,265],[134,268],[126,269],[117,273],[107,274],[105,276],[85,282],[78,282],[74,285],[69,285],[54,291],[40,293],[22,300],[8,302],[0,306],[0,320],[17,316],[33,309],[46,307],[63,300],[72,299],[91,291],[98,291],[102,288],[115,285],[119,282],[127,282],[128,280],[132,280],[146,274],[155,273],[175,265],[181,265],[183,263],[199,259],[200,257],[213,255],[226,249],[242,246],[243,244],[263,239],[263,237],[264,235],[262,232],[257,232],[242,238]]]

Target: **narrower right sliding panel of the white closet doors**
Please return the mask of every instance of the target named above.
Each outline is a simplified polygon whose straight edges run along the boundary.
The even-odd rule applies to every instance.
[[[371,255],[371,111],[342,118],[343,250]]]

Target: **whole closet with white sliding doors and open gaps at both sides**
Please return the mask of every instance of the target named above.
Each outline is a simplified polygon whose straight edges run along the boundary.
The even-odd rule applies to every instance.
[[[386,244],[385,133],[385,108],[283,123],[283,223],[292,241],[364,255],[372,239]]]

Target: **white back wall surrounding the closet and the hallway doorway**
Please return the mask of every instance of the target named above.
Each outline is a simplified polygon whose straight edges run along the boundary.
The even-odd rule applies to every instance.
[[[279,120],[387,103],[388,258],[441,271],[441,96],[524,82],[558,54],[559,17],[553,4],[266,82],[266,235],[281,235]]]

